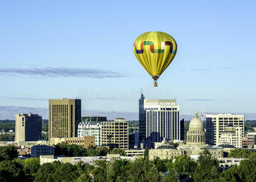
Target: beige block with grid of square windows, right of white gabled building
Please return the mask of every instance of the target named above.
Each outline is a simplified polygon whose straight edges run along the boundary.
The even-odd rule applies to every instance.
[[[129,149],[129,124],[124,118],[101,123],[101,146]]]

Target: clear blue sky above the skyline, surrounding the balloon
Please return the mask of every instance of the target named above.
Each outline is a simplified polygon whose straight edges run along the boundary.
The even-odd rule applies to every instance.
[[[177,99],[183,113],[256,111],[255,1],[0,1],[0,106],[138,111]],[[133,55],[141,33],[176,39],[174,61],[152,87]]]

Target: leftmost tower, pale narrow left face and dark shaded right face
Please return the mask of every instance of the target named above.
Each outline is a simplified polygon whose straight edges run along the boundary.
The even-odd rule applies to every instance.
[[[42,117],[37,114],[15,115],[15,141],[37,141],[41,139]]]

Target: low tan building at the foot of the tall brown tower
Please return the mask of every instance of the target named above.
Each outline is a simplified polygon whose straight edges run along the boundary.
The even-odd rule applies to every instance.
[[[94,136],[82,136],[82,137],[66,137],[66,138],[51,138],[50,144],[55,145],[58,143],[76,144],[84,148],[95,146]]]

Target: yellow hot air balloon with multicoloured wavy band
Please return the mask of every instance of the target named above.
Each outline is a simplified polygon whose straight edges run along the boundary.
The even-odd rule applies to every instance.
[[[176,55],[177,44],[168,33],[146,32],[133,43],[133,52],[157,87],[157,79]]]

